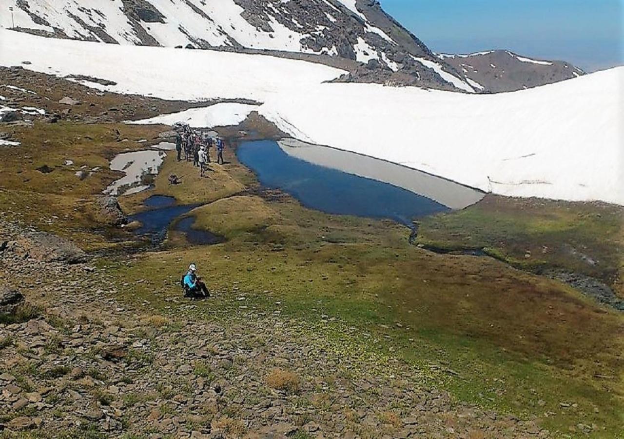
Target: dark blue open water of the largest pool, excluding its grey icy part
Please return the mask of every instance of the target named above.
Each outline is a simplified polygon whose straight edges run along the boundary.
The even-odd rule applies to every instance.
[[[414,217],[450,210],[402,187],[298,159],[274,141],[244,142],[236,155],[263,186],[329,214],[387,218],[412,227]]]

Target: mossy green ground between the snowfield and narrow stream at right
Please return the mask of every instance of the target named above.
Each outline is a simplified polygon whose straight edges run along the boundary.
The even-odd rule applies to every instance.
[[[487,195],[467,209],[419,221],[417,244],[484,248],[517,267],[586,274],[624,297],[624,209],[603,203]]]

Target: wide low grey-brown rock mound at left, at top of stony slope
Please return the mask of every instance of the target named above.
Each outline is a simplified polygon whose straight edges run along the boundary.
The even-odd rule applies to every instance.
[[[86,262],[87,254],[70,240],[47,232],[27,232],[14,245],[14,251],[22,257],[42,262],[79,264]]]

